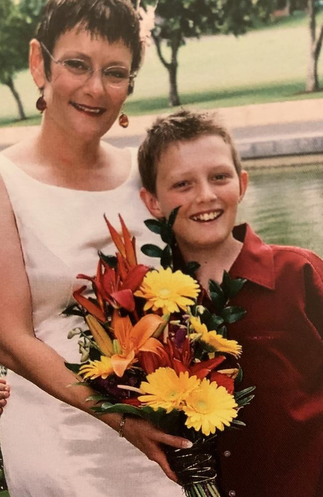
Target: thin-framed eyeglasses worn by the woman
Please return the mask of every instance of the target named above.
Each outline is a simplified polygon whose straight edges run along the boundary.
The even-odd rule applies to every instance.
[[[122,66],[109,66],[102,69],[93,69],[91,64],[83,59],[64,59],[56,60],[45,47],[44,43],[40,42],[42,48],[55,64],[60,64],[75,80],[80,83],[86,83],[94,73],[101,73],[101,78],[104,86],[112,88],[125,88],[131,84],[136,77],[135,74],[129,74],[127,68]]]

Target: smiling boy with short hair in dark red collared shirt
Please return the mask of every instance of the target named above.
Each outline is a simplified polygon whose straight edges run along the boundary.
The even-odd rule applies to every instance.
[[[242,430],[218,436],[222,496],[322,497],[323,262],[302,248],[264,244],[234,227],[247,187],[226,128],[180,111],[156,121],[139,149],[141,197],[151,214],[181,206],[174,233],[183,259],[199,262],[207,288],[223,270],[247,279],[231,305],[242,344],[241,388],[255,385]]]

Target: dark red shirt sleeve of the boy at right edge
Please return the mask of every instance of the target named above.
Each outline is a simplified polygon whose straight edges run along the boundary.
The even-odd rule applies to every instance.
[[[304,267],[305,312],[323,338],[323,260],[310,254]]]

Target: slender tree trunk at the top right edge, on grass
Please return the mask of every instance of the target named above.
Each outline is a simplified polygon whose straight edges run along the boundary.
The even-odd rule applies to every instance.
[[[317,35],[316,22],[317,7],[315,0],[308,0],[308,17],[310,30],[310,57],[306,81],[306,91],[318,91],[320,89],[318,77],[318,61],[323,41],[323,23]]]

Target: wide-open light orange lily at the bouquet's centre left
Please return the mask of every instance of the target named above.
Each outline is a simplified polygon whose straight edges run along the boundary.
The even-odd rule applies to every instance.
[[[111,357],[111,363],[117,376],[123,376],[125,370],[137,361],[138,352],[159,354],[162,345],[153,334],[163,323],[161,316],[147,314],[133,326],[129,316],[123,318],[119,313],[114,313],[112,328],[120,353]]]

